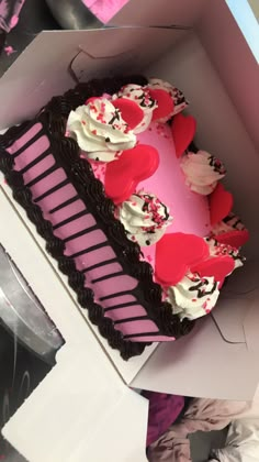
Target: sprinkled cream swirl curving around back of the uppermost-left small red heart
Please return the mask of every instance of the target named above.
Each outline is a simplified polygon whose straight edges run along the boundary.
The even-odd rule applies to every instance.
[[[146,87],[140,85],[130,84],[121,88],[121,90],[113,95],[112,99],[116,98],[126,98],[134,101],[144,112],[144,118],[142,122],[134,128],[134,133],[142,133],[147,130],[149,123],[151,122],[153,111],[157,108],[155,99],[153,99]]]

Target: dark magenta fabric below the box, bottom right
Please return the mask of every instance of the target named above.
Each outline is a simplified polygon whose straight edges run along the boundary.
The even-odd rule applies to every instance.
[[[183,409],[184,398],[155,392],[143,392],[143,395],[149,399],[147,429],[147,446],[149,446],[176,421]]]

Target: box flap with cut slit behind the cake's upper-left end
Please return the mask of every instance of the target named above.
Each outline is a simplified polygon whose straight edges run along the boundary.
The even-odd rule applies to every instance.
[[[79,70],[83,70],[81,77],[86,80],[104,70],[132,73],[133,63],[136,73],[184,33],[149,28],[42,32],[1,78],[0,129],[32,118],[53,96],[72,88],[69,66],[80,50],[87,53],[81,59],[82,69],[77,72],[80,75]],[[131,58],[124,57],[121,68],[119,61],[111,57],[125,53]]]

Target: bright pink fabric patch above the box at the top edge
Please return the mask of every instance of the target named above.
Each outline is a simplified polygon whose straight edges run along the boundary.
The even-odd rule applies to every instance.
[[[104,24],[106,24],[128,0],[82,0],[85,6]]]

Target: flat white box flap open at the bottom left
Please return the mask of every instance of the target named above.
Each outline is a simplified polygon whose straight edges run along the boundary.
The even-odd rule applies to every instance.
[[[2,433],[29,462],[144,462],[147,415],[148,402],[88,339],[60,350]]]

